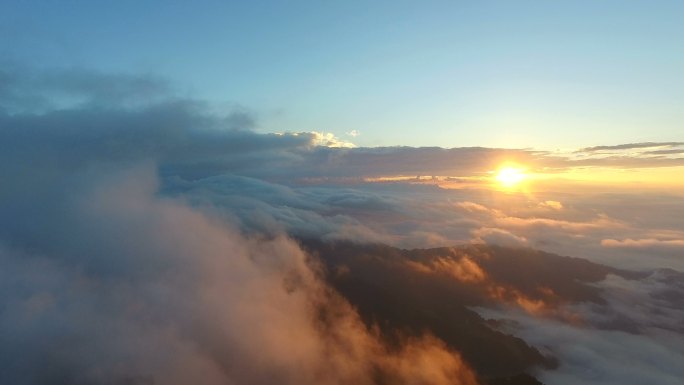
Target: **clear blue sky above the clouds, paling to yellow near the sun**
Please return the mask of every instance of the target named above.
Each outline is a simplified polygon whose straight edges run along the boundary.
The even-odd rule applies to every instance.
[[[5,1],[0,58],[165,77],[260,131],[567,149],[684,138],[683,18],[681,1]]]

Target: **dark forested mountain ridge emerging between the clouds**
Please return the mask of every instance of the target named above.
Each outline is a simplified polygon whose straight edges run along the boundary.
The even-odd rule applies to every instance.
[[[402,250],[379,244],[302,239],[302,247],[323,262],[328,282],[356,307],[367,326],[377,326],[390,346],[407,336],[430,333],[458,351],[489,385],[540,384],[535,368],[558,362],[520,338],[497,330],[496,322],[470,310],[506,301],[493,298],[492,287],[509,288],[553,308],[562,303],[600,304],[600,289],[586,283],[607,274],[636,277],[580,258],[532,249],[486,245]],[[449,274],[426,274],[437,260],[467,256],[486,274],[479,282]],[[416,268],[418,266],[418,268]],[[540,290],[540,288],[551,289]],[[509,297],[512,300],[513,297]]]

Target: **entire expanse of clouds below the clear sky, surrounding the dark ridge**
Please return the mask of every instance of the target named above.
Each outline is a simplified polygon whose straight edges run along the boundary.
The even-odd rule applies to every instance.
[[[293,237],[501,245],[530,266],[539,254],[527,247],[622,268],[684,269],[684,197],[676,192],[504,193],[481,182],[504,160],[550,172],[681,166],[678,152],[647,154],[681,143],[601,146],[575,157],[351,148],[327,133],[257,133],[244,110],[217,114],[154,77],[75,69],[4,68],[0,106],[3,383],[476,382],[445,338],[400,333],[388,343]],[[463,188],[441,188],[446,177]],[[605,302],[587,304],[591,296],[526,287],[536,281],[501,273],[517,272],[515,264],[429,257],[397,259],[392,271],[462,285],[480,301],[471,306],[524,309],[506,315],[520,324],[510,332],[563,360],[544,372],[549,381],[625,379],[617,364],[642,359],[632,351],[640,344],[662,360],[633,367],[629,378],[669,383],[681,374],[673,369],[681,349],[671,343],[682,333],[673,323],[682,316],[677,272],[597,278]],[[359,266],[369,277],[384,274]],[[635,303],[646,305],[630,312]],[[620,339],[629,351],[620,351]],[[564,345],[570,340],[583,341],[579,350]],[[617,360],[605,358],[613,352]],[[577,374],[586,368],[597,372]]]

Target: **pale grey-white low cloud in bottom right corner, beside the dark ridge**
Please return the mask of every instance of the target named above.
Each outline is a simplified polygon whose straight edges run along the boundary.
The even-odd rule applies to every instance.
[[[684,369],[682,274],[659,270],[644,279],[609,275],[597,284],[606,303],[582,303],[568,311],[573,325],[514,310],[480,309],[509,332],[554,354],[560,365],[541,371],[549,384],[678,384]]]

